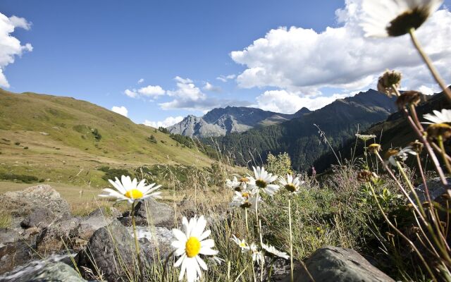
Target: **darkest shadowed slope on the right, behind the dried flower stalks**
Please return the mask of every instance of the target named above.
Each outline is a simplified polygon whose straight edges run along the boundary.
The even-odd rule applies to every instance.
[[[432,113],[433,110],[440,111],[441,109],[451,109],[451,105],[447,102],[443,92],[428,97],[426,102],[421,103],[416,108],[416,111],[419,114],[420,121],[425,121],[422,118],[424,114]],[[406,118],[400,112],[391,114],[385,121],[374,124],[371,128],[364,130],[362,134],[376,135],[376,140],[381,144],[384,152],[393,147],[405,147],[410,142],[418,139],[409,123],[407,123]],[[354,147],[356,148],[354,157],[362,157],[364,145],[362,141],[357,141],[357,146],[355,146],[355,142],[355,137],[351,137],[342,146],[336,148],[336,151],[340,152],[342,159],[351,159],[351,148],[354,149]],[[450,145],[450,142],[447,143],[447,145]],[[330,165],[336,163],[337,161],[333,154],[328,152],[314,162],[314,167],[316,171],[322,172],[329,168]]]

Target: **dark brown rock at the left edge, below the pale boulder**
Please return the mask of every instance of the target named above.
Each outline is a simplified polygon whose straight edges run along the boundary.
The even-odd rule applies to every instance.
[[[31,247],[23,242],[7,243],[0,247],[0,274],[11,271],[15,266],[25,264],[33,257]]]

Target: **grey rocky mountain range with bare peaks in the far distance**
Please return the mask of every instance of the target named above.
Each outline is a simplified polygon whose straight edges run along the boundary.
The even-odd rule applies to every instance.
[[[242,133],[250,128],[282,123],[309,112],[309,109],[302,108],[295,114],[278,114],[262,109],[227,106],[226,108],[213,109],[202,118],[187,116],[180,123],[168,127],[168,131],[189,137],[216,137],[228,133]]]

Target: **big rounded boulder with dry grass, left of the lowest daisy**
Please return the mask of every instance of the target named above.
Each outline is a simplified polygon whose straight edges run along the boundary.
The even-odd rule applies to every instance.
[[[140,257],[144,264],[150,260],[142,250]],[[135,243],[127,228],[113,220],[109,226],[94,232],[86,250],[78,253],[77,260],[85,278],[92,278],[87,269],[94,275],[98,275],[96,269],[99,269],[106,281],[127,280],[127,273],[136,269]]]

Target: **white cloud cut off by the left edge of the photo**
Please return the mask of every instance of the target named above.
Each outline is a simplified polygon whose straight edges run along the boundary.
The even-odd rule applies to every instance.
[[[9,87],[8,80],[4,75],[5,67],[10,63],[14,63],[16,56],[22,56],[25,51],[32,51],[33,47],[31,44],[27,43],[25,45],[20,44],[20,41],[11,36],[11,33],[17,28],[23,28],[25,30],[30,30],[31,23],[27,22],[25,18],[18,18],[12,16],[11,18],[6,17],[4,14],[0,13],[0,86]]]

